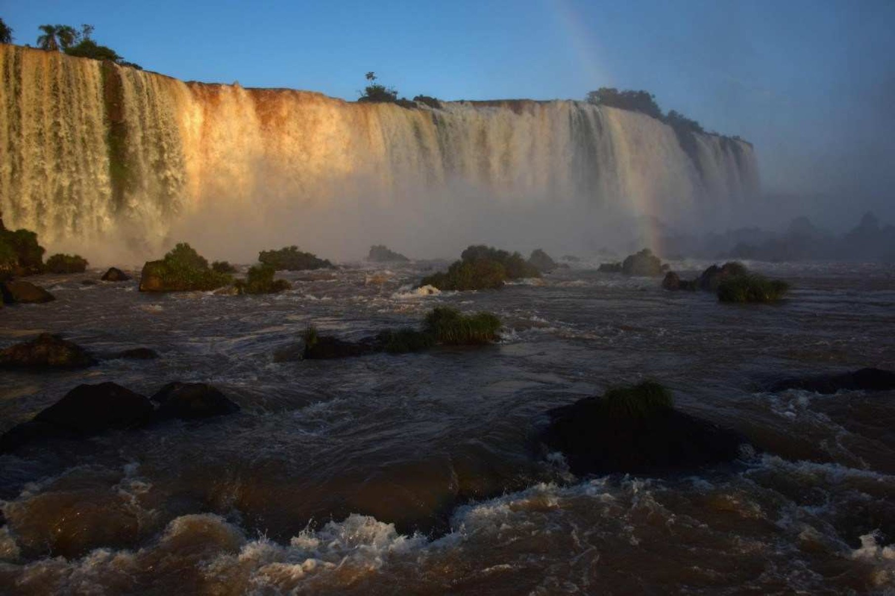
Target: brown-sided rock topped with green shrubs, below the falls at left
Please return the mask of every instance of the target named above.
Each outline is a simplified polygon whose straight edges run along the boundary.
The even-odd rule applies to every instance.
[[[191,292],[217,290],[233,283],[233,277],[217,273],[187,243],[177,244],[162,260],[143,265],[141,292]]]

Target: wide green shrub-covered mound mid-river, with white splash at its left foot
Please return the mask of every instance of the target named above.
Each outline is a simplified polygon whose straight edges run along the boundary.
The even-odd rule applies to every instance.
[[[507,280],[524,277],[541,277],[541,272],[518,252],[479,244],[463,251],[447,272],[424,277],[420,285],[433,285],[439,290],[494,290]]]

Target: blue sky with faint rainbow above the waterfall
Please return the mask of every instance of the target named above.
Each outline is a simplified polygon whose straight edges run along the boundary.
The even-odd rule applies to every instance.
[[[752,140],[767,190],[895,216],[895,0],[0,0],[0,18],[18,44],[87,22],[148,70],[346,99],[367,71],[408,98],[648,89]]]

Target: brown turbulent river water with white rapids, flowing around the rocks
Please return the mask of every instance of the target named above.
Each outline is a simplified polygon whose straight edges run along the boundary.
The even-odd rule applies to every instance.
[[[56,302],[0,311],[0,345],[52,331],[161,357],[5,373],[0,431],[106,380],[208,381],[242,411],[0,456],[0,592],[891,593],[895,395],[765,387],[895,368],[895,269],[750,265],[788,300],[724,305],[580,264],[425,297],[408,289],[425,263],[286,274],[293,290],[260,297],[37,277]],[[502,341],[272,361],[310,322],[363,336],[437,304],[496,312]],[[538,443],[550,407],[644,378],[756,455],[576,478]]]

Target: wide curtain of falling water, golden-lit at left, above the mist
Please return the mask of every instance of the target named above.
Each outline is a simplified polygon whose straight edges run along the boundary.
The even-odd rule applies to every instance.
[[[405,109],[183,82],[0,46],[0,207],[47,241],[128,226],[161,239],[207,201],[325,204],[452,184],[674,217],[758,190],[752,146],[575,101]]]

